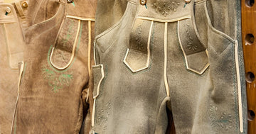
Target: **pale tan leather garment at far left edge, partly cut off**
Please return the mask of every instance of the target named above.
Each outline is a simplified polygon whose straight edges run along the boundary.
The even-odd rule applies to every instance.
[[[0,1],[0,133],[11,133],[22,65],[28,1]]]

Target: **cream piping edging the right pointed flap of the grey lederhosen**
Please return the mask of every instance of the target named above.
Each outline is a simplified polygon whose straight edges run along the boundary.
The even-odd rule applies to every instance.
[[[183,46],[181,45],[181,38],[180,38],[180,35],[179,35],[179,23],[180,23],[180,21],[178,21],[178,42],[179,42],[179,44],[180,44],[180,46],[181,46],[181,50],[182,50],[183,55],[184,55],[184,57],[185,57],[186,69],[191,70],[192,72],[196,72],[197,74],[203,74],[203,72],[206,71],[206,69],[210,66],[210,64],[209,64],[209,62],[208,62],[208,63],[206,64],[206,66],[203,67],[203,69],[201,70],[201,72],[198,72],[198,71],[196,71],[195,69],[191,69],[191,68],[188,66],[187,55],[186,55],[185,50],[183,50]],[[205,52],[206,52],[207,57],[209,57],[209,56],[208,56],[208,51],[205,50]]]

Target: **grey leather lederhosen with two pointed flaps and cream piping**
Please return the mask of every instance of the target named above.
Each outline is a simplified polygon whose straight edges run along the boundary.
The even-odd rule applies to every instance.
[[[129,0],[95,37],[91,133],[166,133],[167,108],[176,133],[247,133],[240,38],[239,0]]]

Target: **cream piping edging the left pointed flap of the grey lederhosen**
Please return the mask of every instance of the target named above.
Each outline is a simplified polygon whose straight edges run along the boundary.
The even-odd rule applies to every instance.
[[[139,71],[142,71],[143,69],[146,69],[149,67],[149,60],[150,60],[150,42],[151,42],[151,31],[152,31],[152,27],[153,27],[153,23],[154,21],[151,20],[151,26],[149,28],[149,37],[148,37],[148,43],[147,43],[147,60],[146,60],[146,67],[142,67],[141,69],[137,69],[137,70],[134,70],[132,69],[132,67],[129,66],[129,63],[126,61],[127,59],[127,55],[129,53],[129,48],[127,48],[127,52],[126,52],[126,55],[124,57],[124,64],[127,65],[127,67],[129,67],[129,69],[131,69],[132,72],[139,72]]]

